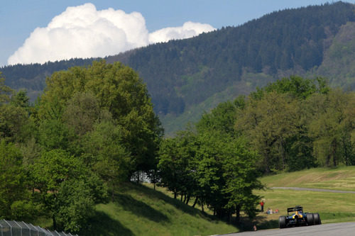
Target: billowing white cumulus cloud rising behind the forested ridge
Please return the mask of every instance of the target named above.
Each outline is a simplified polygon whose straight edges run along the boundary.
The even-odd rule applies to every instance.
[[[68,7],[45,28],[35,28],[25,43],[9,57],[8,64],[44,63],[80,57],[116,55],[151,43],[190,38],[214,28],[186,22],[149,33],[139,12],[97,11],[94,4]]]

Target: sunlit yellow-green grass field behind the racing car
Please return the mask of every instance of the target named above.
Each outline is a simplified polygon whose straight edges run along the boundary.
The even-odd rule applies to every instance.
[[[287,214],[287,208],[300,205],[304,210],[320,213],[322,223],[355,221],[355,194],[316,191],[270,189],[271,187],[302,187],[355,191],[355,167],[334,169],[317,168],[261,178],[266,191],[256,191],[266,201],[264,209],[279,210],[278,214],[259,213],[258,224],[262,228],[278,227],[278,217]]]

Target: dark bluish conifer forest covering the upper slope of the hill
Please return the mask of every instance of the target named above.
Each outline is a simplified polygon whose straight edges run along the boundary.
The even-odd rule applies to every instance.
[[[286,9],[242,26],[150,45],[108,61],[120,60],[139,72],[157,113],[179,114],[240,81],[246,72],[278,78],[319,66],[332,38],[349,21],[355,21],[354,5],[341,1]]]

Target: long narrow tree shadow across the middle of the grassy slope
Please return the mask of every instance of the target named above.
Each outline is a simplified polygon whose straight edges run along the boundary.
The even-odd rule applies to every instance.
[[[115,203],[118,203],[124,210],[129,210],[137,216],[143,216],[154,222],[169,221],[168,217],[160,211],[155,210],[142,201],[138,201],[126,194],[116,194]]]

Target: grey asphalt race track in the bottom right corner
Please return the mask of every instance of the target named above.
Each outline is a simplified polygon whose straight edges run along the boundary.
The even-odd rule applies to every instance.
[[[312,225],[290,227],[285,229],[258,230],[228,234],[228,236],[261,236],[261,235],[312,235],[312,236],[350,236],[355,235],[355,223],[333,223],[325,225]]]

